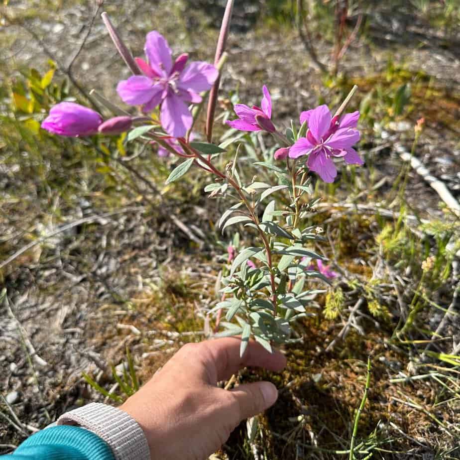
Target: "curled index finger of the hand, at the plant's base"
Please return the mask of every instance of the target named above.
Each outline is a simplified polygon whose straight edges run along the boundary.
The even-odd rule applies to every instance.
[[[269,353],[262,345],[250,341],[243,356],[239,356],[241,340],[227,337],[207,342],[202,345],[207,353],[203,353],[204,364],[215,385],[219,380],[227,380],[232,374],[246,366],[264,367],[268,370],[280,371],[286,365],[286,358],[278,351]],[[215,377],[215,378],[214,378]]]

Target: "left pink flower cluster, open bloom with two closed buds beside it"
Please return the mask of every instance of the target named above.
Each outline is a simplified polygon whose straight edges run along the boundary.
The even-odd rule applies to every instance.
[[[157,31],[147,34],[144,51],[147,61],[136,58],[143,75],[120,81],[117,93],[125,104],[139,106],[144,114],[159,107],[164,131],[173,138],[183,137],[193,123],[186,103],[201,103],[200,93],[212,88],[219,72],[206,62],[188,62],[187,54],[181,54],[173,62],[168,42]],[[61,136],[78,137],[98,132],[119,134],[129,130],[133,121],[130,116],[116,116],[103,122],[97,112],[63,102],[51,109],[41,127]]]

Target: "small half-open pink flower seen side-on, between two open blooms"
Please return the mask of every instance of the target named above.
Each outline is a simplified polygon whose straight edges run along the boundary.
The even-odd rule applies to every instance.
[[[251,109],[244,104],[235,104],[233,109],[239,119],[229,120],[227,124],[240,131],[275,132],[276,128],[271,122],[271,97],[265,85],[263,85],[262,92],[261,109],[257,106],[252,106]]]

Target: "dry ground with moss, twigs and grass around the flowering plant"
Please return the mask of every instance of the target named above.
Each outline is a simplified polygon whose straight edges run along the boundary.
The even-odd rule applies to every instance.
[[[95,8],[56,1],[45,11],[39,3],[3,7],[0,40],[8,54],[1,73],[13,86],[23,78],[18,69],[44,73],[50,55],[67,69]],[[296,327],[299,342],[283,347],[288,366],[282,373],[249,369],[237,376],[236,384],[273,381],[280,398],[260,417],[252,443],[242,424],[217,456],[348,456],[370,356],[356,458],[370,452],[384,459],[460,458],[458,218],[395,148],[411,150],[414,125],[425,117],[414,155],[459,200],[458,35],[411,7],[382,5],[367,12],[365,34],[350,45],[339,76],[324,76],[312,67],[292,23],[275,21],[267,5],[235,4],[221,106],[235,89],[241,101],[258,104],[265,83],[277,123],[288,126],[318,101],[338,105],[357,84],[351,108],[367,114],[359,148],[366,165],[344,169],[338,185],[316,182],[315,193],[325,198],[308,219],[325,229],[329,244],[316,249],[339,271],[332,292],[343,299],[335,304],[329,293],[312,302],[314,316]],[[194,59],[213,58],[222,13],[216,5],[159,1],[152,10],[150,2],[136,0],[106,1],[104,8],[135,55],[142,54],[145,32],[158,29],[175,54],[186,49]],[[328,63],[330,37],[315,33],[318,55]],[[127,75],[96,17],[73,78],[85,91],[96,88],[115,100],[115,84]],[[63,78],[56,73],[56,81]],[[410,95],[401,102],[398,94],[405,92]],[[3,116],[11,110],[8,98],[5,84]],[[218,138],[223,127],[216,131]],[[6,129],[0,136],[3,453],[66,410],[111,400],[83,373],[123,398],[110,366],[122,375],[126,348],[145,382],[182,344],[202,340],[231,234],[216,230],[226,202],[206,197],[209,179],[164,186],[171,165],[150,148],[132,160],[127,152],[128,160],[106,161],[72,141]],[[240,155],[242,169],[251,155]],[[432,266],[424,270],[428,257]]]

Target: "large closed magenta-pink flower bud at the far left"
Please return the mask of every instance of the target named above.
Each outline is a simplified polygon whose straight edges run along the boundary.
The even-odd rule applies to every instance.
[[[60,136],[78,137],[96,134],[101,123],[101,115],[94,110],[73,102],[61,102],[51,108],[41,127]]]

